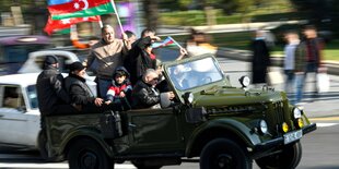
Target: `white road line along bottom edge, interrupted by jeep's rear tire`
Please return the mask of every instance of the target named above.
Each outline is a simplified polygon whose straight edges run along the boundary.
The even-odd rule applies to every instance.
[[[68,169],[68,164],[5,164],[0,162],[0,168],[15,169]],[[115,165],[115,169],[136,169],[133,165]]]

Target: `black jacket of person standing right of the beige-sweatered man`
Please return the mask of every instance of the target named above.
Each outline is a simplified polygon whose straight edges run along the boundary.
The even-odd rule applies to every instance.
[[[147,69],[155,69],[156,67],[156,60],[152,59],[144,50],[151,44],[151,37],[140,38],[132,44],[132,48],[128,52],[128,58],[125,60],[125,68],[130,73],[132,85],[138,82]]]

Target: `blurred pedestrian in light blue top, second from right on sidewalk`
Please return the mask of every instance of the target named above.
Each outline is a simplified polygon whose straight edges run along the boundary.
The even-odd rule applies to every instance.
[[[294,88],[294,55],[295,49],[300,44],[300,38],[296,32],[288,32],[284,35],[287,45],[284,46],[284,61],[283,69],[285,74],[284,89],[288,94],[291,94]]]

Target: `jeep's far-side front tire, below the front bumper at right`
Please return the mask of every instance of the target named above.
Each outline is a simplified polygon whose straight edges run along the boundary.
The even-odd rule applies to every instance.
[[[302,159],[302,144],[287,145],[281,153],[256,159],[261,169],[294,169]]]

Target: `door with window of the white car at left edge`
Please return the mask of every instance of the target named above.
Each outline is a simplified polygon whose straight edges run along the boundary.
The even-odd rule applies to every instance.
[[[34,146],[39,129],[39,116],[26,113],[23,88],[0,85],[0,142]]]

